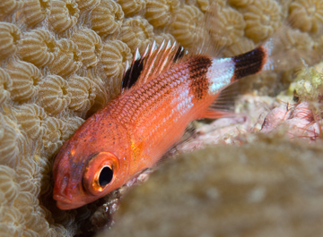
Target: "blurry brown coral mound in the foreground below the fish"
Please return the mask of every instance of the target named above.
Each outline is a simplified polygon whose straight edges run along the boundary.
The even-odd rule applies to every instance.
[[[125,195],[116,224],[97,236],[322,233],[322,144],[255,139],[171,160]]]

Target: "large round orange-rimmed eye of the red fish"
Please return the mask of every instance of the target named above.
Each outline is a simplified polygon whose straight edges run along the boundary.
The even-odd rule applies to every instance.
[[[101,195],[112,185],[118,171],[118,157],[109,152],[92,156],[83,173],[83,189],[92,195]],[[111,184],[111,185],[110,185]]]

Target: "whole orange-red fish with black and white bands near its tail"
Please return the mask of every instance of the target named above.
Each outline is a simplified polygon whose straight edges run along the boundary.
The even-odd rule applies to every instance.
[[[188,123],[218,118],[211,105],[236,80],[269,69],[272,41],[227,58],[185,55],[163,42],[135,54],[122,91],[87,119],[57,153],[53,174],[57,207],[81,207],[152,167]]]

